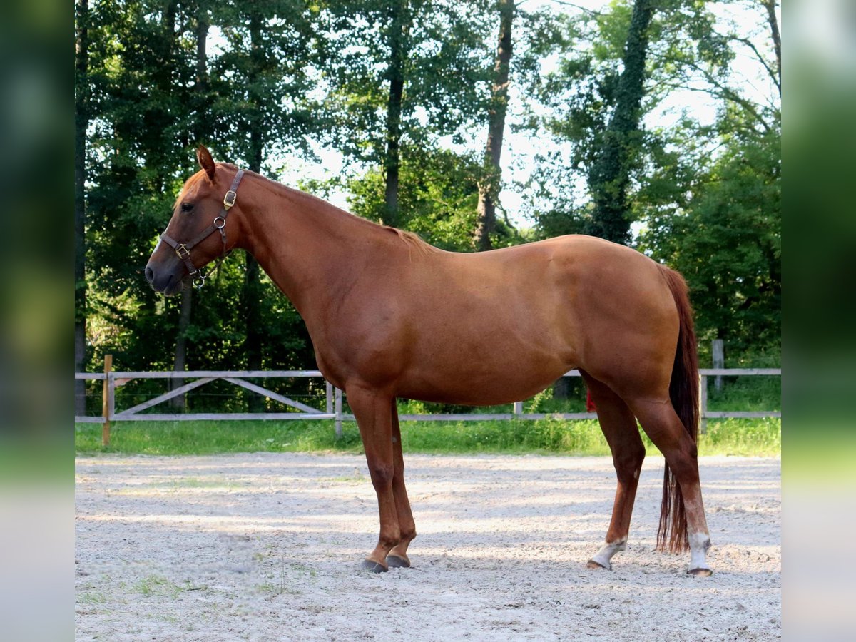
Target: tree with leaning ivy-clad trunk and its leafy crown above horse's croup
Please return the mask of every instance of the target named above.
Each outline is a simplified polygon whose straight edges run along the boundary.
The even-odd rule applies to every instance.
[[[538,45],[559,56],[529,87],[528,128],[544,152],[527,188],[541,235],[630,241],[634,194],[649,174],[645,118],[691,66],[711,78],[727,68],[731,52],[715,22],[704,3],[616,2],[564,17],[563,37]]]

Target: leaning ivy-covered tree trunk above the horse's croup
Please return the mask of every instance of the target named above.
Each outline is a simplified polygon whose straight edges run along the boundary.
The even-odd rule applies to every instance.
[[[589,172],[589,189],[594,201],[586,234],[600,236],[615,243],[630,241],[627,217],[629,166],[639,132],[640,106],[645,82],[645,56],[648,48],[648,26],[654,8],[651,0],[636,0],[624,48],[624,69],[618,80],[615,111],[603,134],[603,144]]]

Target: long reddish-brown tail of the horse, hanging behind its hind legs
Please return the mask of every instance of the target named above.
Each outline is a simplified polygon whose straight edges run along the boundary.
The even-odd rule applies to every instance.
[[[669,398],[675,413],[687,429],[693,443],[698,438],[698,352],[693,329],[693,308],[687,295],[687,282],[683,276],[660,265],[675,305],[678,307],[680,334],[675,351],[675,366],[669,382]],[[681,486],[666,463],[663,473],[663,502],[660,505],[660,526],[657,529],[657,548],[679,553],[689,548],[687,514]]]

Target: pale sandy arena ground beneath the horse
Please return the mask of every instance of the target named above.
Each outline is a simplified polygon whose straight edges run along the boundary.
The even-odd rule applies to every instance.
[[[406,460],[413,568],[367,574],[361,456],[78,458],[76,639],[781,637],[779,459],[701,459],[708,579],[653,550],[660,458],[613,571],[585,568],[609,524],[608,458]]]

